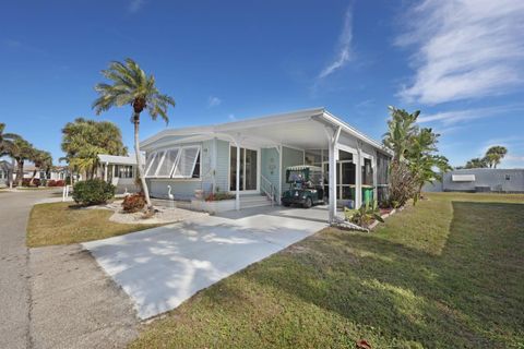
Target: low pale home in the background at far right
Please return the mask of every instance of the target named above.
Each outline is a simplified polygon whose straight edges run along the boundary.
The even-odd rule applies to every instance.
[[[426,192],[524,192],[524,169],[472,168],[443,174],[442,182],[428,183]]]

